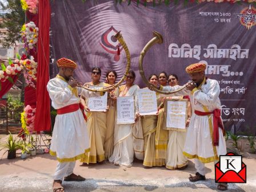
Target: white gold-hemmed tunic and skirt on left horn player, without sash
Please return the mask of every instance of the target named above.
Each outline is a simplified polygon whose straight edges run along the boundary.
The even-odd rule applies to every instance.
[[[73,88],[67,82],[55,77],[47,84],[47,91],[54,109],[60,109],[71,104],[78,104],[79,97],[71,91]],[[99,93],[77,88],[78,95],[84,97],[98,96]],[[89,137],[82,112],[57,115],[55,119],[53,136],[51,137],[50,154],[57,156],[59,162],[71,162],[79,160],[89,150]]]

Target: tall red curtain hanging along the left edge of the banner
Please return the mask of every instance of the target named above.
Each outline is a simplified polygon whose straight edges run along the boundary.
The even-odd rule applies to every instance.
[[[38,1],[38,28],[37,43],[38,67],[37,67],[37,112],[35,113],[35,129],[51,130],[50,97],[46,85],[49,81],[50,60],[50,1]]]

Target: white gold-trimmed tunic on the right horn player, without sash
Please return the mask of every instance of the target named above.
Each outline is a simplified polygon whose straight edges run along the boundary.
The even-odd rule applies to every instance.
[[[163,91],[174,91],[181,88],[177,85],[174,87],[163,87]],[[219,100],[220,88],[216,80],[207,79],[206,84],[202,84],[201,89],[189,91],[186,88],[174,93],[175,96],[189,95],[192,116],[187,128],[187,137],[183,154],[188,158],[197,158],[203,163],[218,160],[219,155],[226,154],[226,142],[222,130],[219,128],[219,145],[213,145],[213,115],[198,116],[194,110],[201,112],[212,112],[214,109],[221,109]]]

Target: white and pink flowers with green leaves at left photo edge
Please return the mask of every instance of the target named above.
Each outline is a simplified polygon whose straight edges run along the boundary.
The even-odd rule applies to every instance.
[[[1,64],[0,68],[0,90],[1,83],[9,80],[13,83],[13,79],[11,79],[10,75],[17,75],[19,72],[23,70],[23,66],[20,63],[13,63],[11,59],[9,59],[9,66],[5,66],[5,64]]]

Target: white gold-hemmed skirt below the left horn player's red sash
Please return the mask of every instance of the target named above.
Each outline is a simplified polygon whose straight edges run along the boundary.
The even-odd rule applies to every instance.
[[[50,154],[57,156],[59,162],[71,162],[84,157],[88,151],[89,137],[81,110],[57,115]]]

